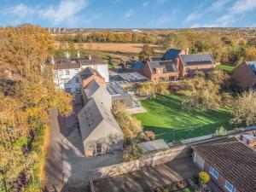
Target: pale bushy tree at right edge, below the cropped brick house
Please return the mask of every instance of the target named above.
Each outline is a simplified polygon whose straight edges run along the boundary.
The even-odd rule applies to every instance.
[[[232,105],[234,118],[231,120],[236,125],[256,125],[256,91],[248,90],[237,96]]]

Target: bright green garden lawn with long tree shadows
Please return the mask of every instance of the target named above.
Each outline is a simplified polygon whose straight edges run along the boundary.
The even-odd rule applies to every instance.
[[[183,95],[177,93],[156,96],[142,102],[147,113],[135,116],[142,121],[145,131],[154,131],[156,138],[163,138],[166,142],[211,134],[222,125],[227,130],[232,129],[230,108],[195,109],[189,113],[180,108],[182,99]]]

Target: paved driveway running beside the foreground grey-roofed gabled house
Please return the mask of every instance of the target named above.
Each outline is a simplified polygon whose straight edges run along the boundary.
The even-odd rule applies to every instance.
[[[75,110],[75,112],[77,112]],[[60,117],[49,110],[49,147],[44,168],[44,192],[90,191],[89,171],[122,162],[122,152],[85,158],[76,113]]]

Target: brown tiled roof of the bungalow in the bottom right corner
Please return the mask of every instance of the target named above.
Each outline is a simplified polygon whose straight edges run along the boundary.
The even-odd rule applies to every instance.
[[[241,192],[256,191],[256,152],[237,139],[192,147]]]

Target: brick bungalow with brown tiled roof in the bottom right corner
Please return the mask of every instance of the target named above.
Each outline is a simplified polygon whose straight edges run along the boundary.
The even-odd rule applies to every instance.
[[[193,161],[224,192],[256,191],[256,152],[235,137],[192,147]]]

